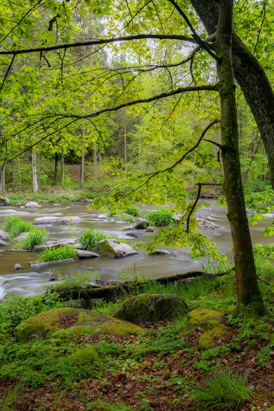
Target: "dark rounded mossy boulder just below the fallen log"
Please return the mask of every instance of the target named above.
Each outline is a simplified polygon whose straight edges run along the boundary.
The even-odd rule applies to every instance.
[[[140,324],[144,321],[171,320],[189,312],[186,301],[175,294],[139,294],[126,299],[116,309],[114,317]]]

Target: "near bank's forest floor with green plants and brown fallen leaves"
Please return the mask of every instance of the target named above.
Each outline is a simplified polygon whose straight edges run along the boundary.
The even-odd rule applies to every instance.
[[[16,343],[10,330],[6,336],[2,334],[0,347],[1,410],[273,411],[273,320],[243,323],[228,314],[235,303],[233,275],[157,287],[154,293],[170,293],[175,287],[191,309],[224,312],[226,336],[201,351],[198,339],[205,329],[186,332],[187,316],[142,323],[141,334],[125,337],[72,332]],[[272,310],[273,283],[262,283],[261,288]],[[17,300],[12,308],[13,314],[18,314],[17,323],[26,307],[30,311],[30,306],[39,306],[39,298]],[[0,321],[7,321],[3,313],[11,310],[10,303]],[[102,303],[96,310],[112,314],[119,304],[121,301]],[[90,345],[97,347],[99,363],[61,361],[75,349]]]

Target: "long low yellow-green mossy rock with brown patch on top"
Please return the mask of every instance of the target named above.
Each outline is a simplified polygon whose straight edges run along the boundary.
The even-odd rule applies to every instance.
[[[81,334],[82,330],[90,328],[90,331],[106,332],[116,336],[126,336],[142,332],[142,328],[136,325],[114,319],[112,316],[82,310],[81,308],[57,308],[40,312],[29,317],[17,325],[15,336],[18,342],[32,338],[48,338],[55,332],[72,329]]]

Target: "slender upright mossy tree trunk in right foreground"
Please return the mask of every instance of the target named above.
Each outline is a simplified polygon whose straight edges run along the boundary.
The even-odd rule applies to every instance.
[[[245,207],[240,172],[238,121],[232,66],[233,0],[219,3],[217,55],[219,62],[219,95],[221,100],[221,141],[224,169],[224,190],[227,199],[227,218],[232,231],[236,271],[237,311],[246,316],[266,314],[258,286],[253,248]]]

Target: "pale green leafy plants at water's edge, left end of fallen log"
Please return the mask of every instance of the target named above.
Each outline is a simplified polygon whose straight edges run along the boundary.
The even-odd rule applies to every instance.
[[[90,287],[97,279],[96,272],[78,271],[77,273],[66,274],[46,285],[47,290],[52,292],[62,292],[64,290],[84,290]]]

